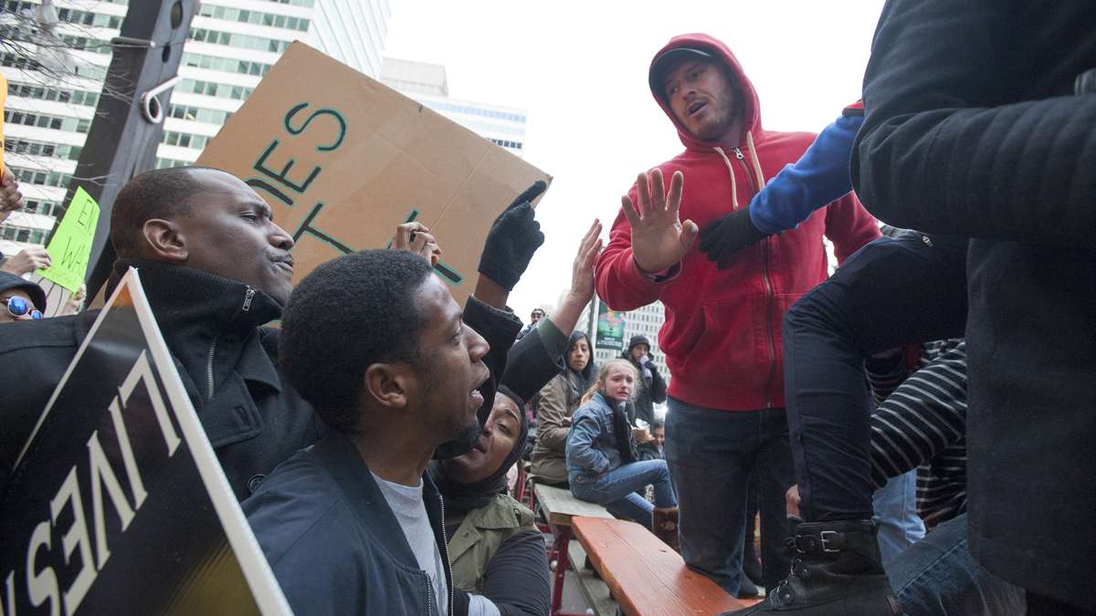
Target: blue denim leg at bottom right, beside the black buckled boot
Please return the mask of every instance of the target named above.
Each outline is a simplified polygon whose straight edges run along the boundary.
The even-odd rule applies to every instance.
[[[967,550],[967,514],[940,524],[887,567],[907,616],[1024,614],[1024,590],[982,568]]]

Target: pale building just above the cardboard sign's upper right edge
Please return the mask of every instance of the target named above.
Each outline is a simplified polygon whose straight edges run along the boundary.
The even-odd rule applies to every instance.
[[[445,67],[385,58],[380,81],[517,155],[525,153],[525,111],[449,98]]]

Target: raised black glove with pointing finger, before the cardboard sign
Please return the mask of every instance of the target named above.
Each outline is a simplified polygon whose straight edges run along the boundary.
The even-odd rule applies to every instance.
[[[514,290],[533,254],[545,243],[540,223],[533,219],[532,202],[547,189],[543,180],[534,182],[494,219],[487,235],[479,272],[506,290]]]

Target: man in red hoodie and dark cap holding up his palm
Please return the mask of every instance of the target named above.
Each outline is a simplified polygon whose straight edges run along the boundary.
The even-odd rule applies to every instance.
[[[698,229],[746,207],[814,136],[762,128],[757,93],[730,49],[710,36],[671,39],[649,78],[685,151],[640,174],[623,198],[597,262],[597,293],[615,310],[655,300],[666,307],[659,346],[674,378],[665,452],[685,562],[738,593],[746,484],[756,472],[763,578],[772,590],[790,566],[784,492],[795,483],[780,323],[826,277],[823,236],[844,260],[879,229],[848,194],[717,266],[693,249]]]

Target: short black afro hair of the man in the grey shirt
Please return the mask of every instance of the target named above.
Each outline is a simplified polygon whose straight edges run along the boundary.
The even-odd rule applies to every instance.
[[[294,289],[282,313],[279,363],[324,423],[357,426],[370,365],[419,363],[425,317],[415,293],[431,271],[410,252],[365,250],[320,265]]]

